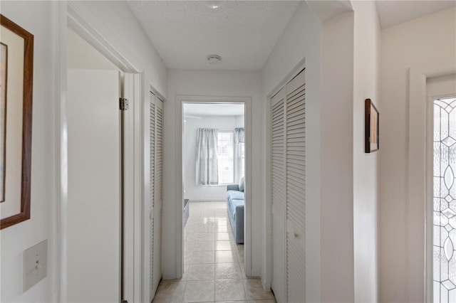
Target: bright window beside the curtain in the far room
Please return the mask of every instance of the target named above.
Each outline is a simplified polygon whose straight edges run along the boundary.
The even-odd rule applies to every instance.
[[[217,157],[219,166],[219,184],[234,183],[234,133],[217,133]]]

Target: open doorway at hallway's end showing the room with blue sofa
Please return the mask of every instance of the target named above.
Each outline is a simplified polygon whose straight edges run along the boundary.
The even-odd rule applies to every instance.
[[[246,275],[246,112],[247,102],[182,102],[182,270],[187,279],[226,279],[222,267],[229,267],[232,277]],[[197,277],[201,267],[209,273]]]

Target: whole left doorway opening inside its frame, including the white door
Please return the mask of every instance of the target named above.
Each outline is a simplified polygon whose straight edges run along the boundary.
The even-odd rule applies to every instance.
[[[133,247],[133,216],[139,206],[133,198],[131,151],[137,139],[131,131],[139,123],[135,110],[140,100],[133,96],[139,95],[139,85],[134,83],[139,83],[140,75],[113,63],[86,36],[80,36],[79,29],[66,29],[64,66],[68,70],[62,70],[66,73],[68,203],[61,206],[61,298],[133,301],[139,297],[133,279],[140,273],[133,264],[139,245],[138,252],[136,247],[135,251],[124,248]],[[121,106],[120,97],[129,99],[129,111]],[[93,262],[98,266],[91,266]]]

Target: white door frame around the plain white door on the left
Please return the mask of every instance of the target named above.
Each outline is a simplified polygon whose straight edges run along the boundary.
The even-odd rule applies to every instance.
[[[128,301],[142,302],[141,298],[141,188],[142,188],[142,73],[143,67],[135,56],[125,49],[110,29],[99,21],[90,9],[80,1],[57,1],[54,4],[57,23],[55,48],[58,50],[56,69],[56,211],[54,223],[58,226],[54,232],[56,245],[53,248],[56,260],[56,298],[59,302],[67,301],[67,266],[66,235],[68,205],[68,138],[66,118],[66,28],[69,27],[91,46],[97,49],[125,73],[124,97],[130,100],[130,110],[124,117],[125,150],[127,159],[123,166],[125,171],[124,196],[128,195],[133,203],[125,209],[125,246],[133,250],[128,253],[124,264],[124,294]]]

